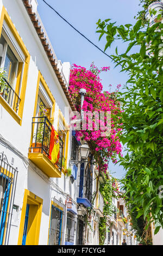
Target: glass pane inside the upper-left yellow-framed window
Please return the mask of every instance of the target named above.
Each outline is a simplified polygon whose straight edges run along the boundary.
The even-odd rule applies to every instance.
[[[8,46],[7,54],[5,57],[4,70],[7,72],[7,78],[11,87],[14,86],[14,80],[16,76],[16,67],[18,60],[16,59],[11,48]]]

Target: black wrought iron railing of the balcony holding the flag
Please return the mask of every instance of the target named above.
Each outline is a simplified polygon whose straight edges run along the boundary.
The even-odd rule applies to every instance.
[[[32,118],[32,145],[29,148],[29,153],[41,153],[49,156],[49,148],[51,142],[52,124],[47,117]],[[62,168],[62,154],[64,142],[59,136],[59,159],[55,163],[60,172]]]

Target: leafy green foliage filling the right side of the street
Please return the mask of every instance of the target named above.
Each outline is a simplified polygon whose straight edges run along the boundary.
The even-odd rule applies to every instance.
[[[105,50],[116,38],[128,42],[126,52],[112,56],[116,65],[122,65],[121,71],[129,74],[118,99],[123,109],[120,139],[127,146],[126,156],[120,156],[120,164],[127,170],[123,179],[125,196],[131,208],[136,209],[137,218],[147,221],[146,230],[152,220],[163,228],[159,197],[159,187],[163,185],[163,24],[158,22],[147,29],[141,20],[134,26],[115,26],[106,21],[98,21],[97,25],[99,33],[106,34]],[[135,46],[140,51],[135,52]],[[130,50],[134,53],[129,54]]]

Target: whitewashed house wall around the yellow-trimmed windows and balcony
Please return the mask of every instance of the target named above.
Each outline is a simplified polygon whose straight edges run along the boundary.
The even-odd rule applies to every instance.
[[[57,129],[59,109],[64,115],[65,107],[68,107],[69,105],[22,1],[0,0],[0,13],[3,5],[7,9],[12,22],[15,24],[15,27],[30,54],[22,125],[18,125],[11,115],[0,106],[0,135],[3,138],[1,139],[0,137],[0,152],[4,151],[9,162],[11,161],[11,158],[14,157],[14,167],[18,168],[14,202],[18,205],[18,214],[15,217],[16,221],[12,222],[9,244],[17,245],[24,189],[28,189],[36,194],[36,196],[43,199],[39,245],[46,245],[48,241],[51,199],[54,196],[57,199],[61,197],[65,203],[65,193],[71,193],[72,198],[76,200],[77,181],[74,181],[74,183],[71,184],[70,179],[65,177],[64,174],[62,174],[61,178],[48,178],[41,172],[41,170],[34,166],[32,162],[28,161],[28,148],[30,144],[39,70],[45,78],[56,101],[54,114],[55,129]],[[67,62],[67,60],[65,61]],[[70,65],[68,66],[66,63],[64,65],[64,70],[66,70],[66,66],[70,68]],[[68,80],[67,71],[65,76]],[[65,118],[69,124],[68,118]],[[68,160],[70,159],[70,139],[67,165]]]

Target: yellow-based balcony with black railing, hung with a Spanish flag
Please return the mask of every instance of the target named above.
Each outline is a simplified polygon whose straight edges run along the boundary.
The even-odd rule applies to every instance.
[[[60,178],[62,170],[63,142],[59,137],[58,161],[54,164],[49,160],[51,145],[52,124],[47,117],[33,117],[32,143],[29,148],[28,158],[51,178]]]

